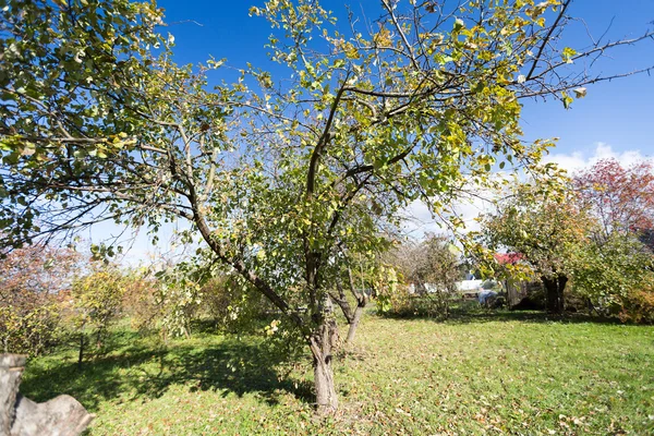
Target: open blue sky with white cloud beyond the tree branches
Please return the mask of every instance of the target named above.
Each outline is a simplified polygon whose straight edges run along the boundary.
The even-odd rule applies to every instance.
[[[263,1],[255,0],[160,0],[169,23],[162,31],[174,35],[179,63],[197,63],[213,56],[227,58],[234,68],[251,62],[274,75],[283,75],[283,68],[268,61],[264,48],[271,32],[268,22],[249,16],[250,7],[262,4]],[[364,11],[368,19],[378,15],[376,0],[326,0],[322,4],[335,11],[343,24],[346,4],[355,12]],[[576,22],[566,31],[565,44],[582,49],[590,44],[588,31],[597,38],[610,24],[604,40],[616,40],[642,35],[654,27],[654,0],[577,0],[569,14],[583,22]],[[615,50],[593,71],[610,74],[651,64],[654,64],[654,40]],[[225,74],[221,71],[216,74]],[[210,77],[216,82],[221,78]],[[570,110],[554,99],[524,101],[523,128],[526,140],[559,137],[548,159],[574,170],[602,157],[616,157],[625,164],[652,157],[653,114],[654,76],[642,74],[589,86],[588,97],[576,101]],[[429,220],[425,210],[417,207],[415,211],[423,214],[425,221]],[[145,238],[138,238],[132,257],[143,257],[148,250]]]

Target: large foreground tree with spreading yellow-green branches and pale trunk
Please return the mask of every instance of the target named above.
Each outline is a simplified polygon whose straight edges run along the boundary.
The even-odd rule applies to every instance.
[[[569,1],[554,0],[382,0],[376,27],[352,17],[347,35],[315,0],[270,0],[251,12],[271,22],[271,58],[292,74],[247,66],[209,90],[222,61],[175,65],[154,4],[86,3],[2,9],[2,242],[187,220],[187,239],[299,329],[326,412],[340,249],[379,251],[377,225],[416,198],[447,215],[471,185],[494,184],[496,162],[535,169],[552,143],[520,141],[520,99],[569,107],[572,89],[611,78],[571,63],[651,36],[560,47]]]

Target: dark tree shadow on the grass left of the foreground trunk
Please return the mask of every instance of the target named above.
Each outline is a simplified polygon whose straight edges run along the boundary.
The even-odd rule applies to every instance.
[[[222,397],[256,392],[269,404],[278,403],[284,393],[313,401],[308,383],[279,380],[268,362],[263,347],[238,340],[206,348],[183,342],[157,348],[136,342],[85,362],[82,371],[70,360],[50,367],[28,364],[21,391],[39,402],[68,393],[92,412],[105,400],[159,398],[173,385],[191,391],[213,390]]]

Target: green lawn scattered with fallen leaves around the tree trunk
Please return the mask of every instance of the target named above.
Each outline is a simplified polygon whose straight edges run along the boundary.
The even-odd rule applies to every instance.
[[[341,408],[327,420],[312,413],[306,362],[279,382],[257,338],[112,340],[81,373],[73,350],[31,361],[23,392],[74,396],[97,414],[92,435],[654,434],[654,327],[368,315],[339,355]]]

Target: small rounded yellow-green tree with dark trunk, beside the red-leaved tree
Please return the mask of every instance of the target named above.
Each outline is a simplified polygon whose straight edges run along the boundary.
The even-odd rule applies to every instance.
[[[572,199],[567,190],[557,193],[540,184],[521,184],[482,220],[483,244],[493,252],[518,253],[543,281],[547,310],[557,314],[564,311],[571,259],[588,242],[592,222]]]

